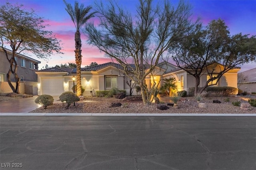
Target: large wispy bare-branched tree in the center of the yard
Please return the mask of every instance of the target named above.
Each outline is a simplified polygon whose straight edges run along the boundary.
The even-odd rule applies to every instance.
[[[168,1],[153,5],[152,0],[139,0],[135,16],[112,1],[96,8],[100,24],[86,24],[88,42],[121,64],[124,73],[138,82],[143,103],[150,104],[144,80],[165,52],[195,28],[190,5],[180,1],[175,8]]]

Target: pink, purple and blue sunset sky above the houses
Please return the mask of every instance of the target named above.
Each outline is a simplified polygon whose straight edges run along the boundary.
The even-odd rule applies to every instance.
[[[74,4],[74,0],[66,0],[68,3]],[[138,0],[116,0],[121,6],[126,9],[135,9]],[[160,0],[161,1],[161,0]],[[63,55],[53,55],[48,61],[38,59],[32,55],[34,59],[41,61],[39,69],[48,64],[55,66],[56,64],[75,63],[74,57],[74,23],[65,10],[63,0],[9,0],[10,3],[23,4],[25,9],[34,9],[38,16],[43,17],[47,27],[56,37],[61,40],[64,53]],[[85,6],[94,6],[94,0],[78,0]],[[103,0],[104,2],[104,0]],[[178,0],[172,0],[174,4]],[[237,33],[256,35],[256,0],[190,0],[192,4],[193,18],[202,18],[202,22],[207,25],[211,20],[218,18],[225,21],[230,30],[230,35]],[[5,3],[4,0],[0,4]],[[97,18],[90,19],[97,23]],[[98,48],[88,45],[86,37],[82,34],[82,67],[89,65],[92,62],[98,64],[110,62],[111,59],[104,57]],[[6,48],[9,48],[6,45]],[[241,66],[241,70],[250,70],[256,67],[256,63],[248,63]]]

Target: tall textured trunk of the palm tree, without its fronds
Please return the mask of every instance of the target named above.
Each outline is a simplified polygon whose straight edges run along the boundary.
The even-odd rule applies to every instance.
[[[77,30],[75,33],[75,43],[76,43],[76,95],[82,95],[82,88],[81,88],[81,64],[82,64],[82,43],[81,43],[81,35],[80,32]]]

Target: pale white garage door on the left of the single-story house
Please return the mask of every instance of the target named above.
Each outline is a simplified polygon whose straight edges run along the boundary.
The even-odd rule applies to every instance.
[[[62,78],[42,78],[41,83],[42,94],[49,94],[51,96],[60,96],[63,90]]]

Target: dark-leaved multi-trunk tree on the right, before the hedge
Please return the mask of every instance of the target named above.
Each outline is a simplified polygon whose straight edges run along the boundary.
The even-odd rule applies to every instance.
[[[216,85],[229,70],[255,61],[256,37],[241,33],[230,36],[223,20],[212,20],[206,28],[198,26],[197,31],[177,43],[170,53],[179,68],[194,76],[195,94],[201,94],[206,87]],[[210,78],[198,92],[200,77],[205,72]]]

